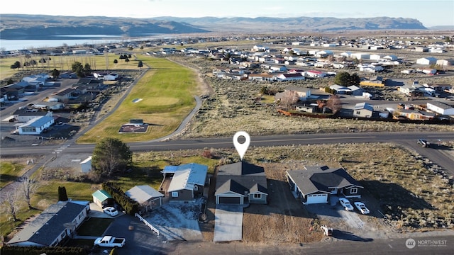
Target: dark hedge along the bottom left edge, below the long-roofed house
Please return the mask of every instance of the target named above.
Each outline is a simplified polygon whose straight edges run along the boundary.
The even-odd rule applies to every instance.
[[[82,247],[21,247],[3,246],[0,249],[1,255],[87,255],[87,251]]]

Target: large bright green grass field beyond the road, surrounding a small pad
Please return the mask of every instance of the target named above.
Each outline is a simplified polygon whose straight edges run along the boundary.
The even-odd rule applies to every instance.
[[[152,140],[176,130],[192,111],[198,86],[194,73],[161,58],[144,56],[141,60],[152,69],[135,84],[113,114],[77,142],[94,143],[99,137],[116,137],[125,142]],[[144,123],[150,124],[147,132],[118,134],[121,125],[129,123],[130,119],[143,119]]]

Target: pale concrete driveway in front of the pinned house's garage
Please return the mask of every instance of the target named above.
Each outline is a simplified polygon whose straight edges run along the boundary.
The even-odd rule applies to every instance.
[[[243,207],[240,205],[216,205],[214,242],[243,239]]]

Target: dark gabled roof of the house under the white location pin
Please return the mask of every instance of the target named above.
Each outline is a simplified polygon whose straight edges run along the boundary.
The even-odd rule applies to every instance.
[[[262,166],[244,161],[219,167],[215,195],[232,191],[242,196],[249,193],[268,193],[267,177]]]

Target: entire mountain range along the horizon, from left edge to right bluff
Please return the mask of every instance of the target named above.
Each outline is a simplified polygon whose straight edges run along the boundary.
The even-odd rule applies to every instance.
[[[139,37],[182,33],[270,33],[336,30],[426,30],[414,18],[114,18],[1,14],[0,38],[6,40],[60,39],[87,35]]]

